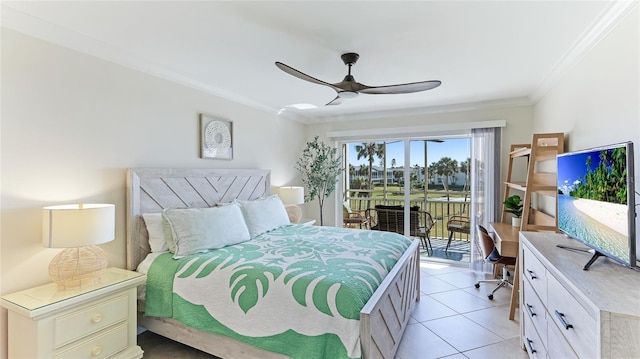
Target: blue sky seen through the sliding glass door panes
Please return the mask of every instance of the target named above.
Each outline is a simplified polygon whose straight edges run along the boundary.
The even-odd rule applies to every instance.
[[[356,145],[362,145],[362,142],[353,142],[349,144],[349,163],[353,165],[368,165],[369,162],[366,158],[357,160],[357,152],[355,151]],[[446,139],[442,143],[427,142],[427,157],[428,164],[432,162],[438,162],[442,157],[451,157],[458,163],[465,161],[471,157],[471,139],[470,138],[452,138]],[[391,167],[391,160],[396,160],[396,167],[403,166],[404,164],[404,142],[388,142],[387,143],[387,167]],[[380,165],[380,160],[375,159],[374,166]],[[424,164],[424,141],[413,140],[411,142],[411,164],[415,166]]]

